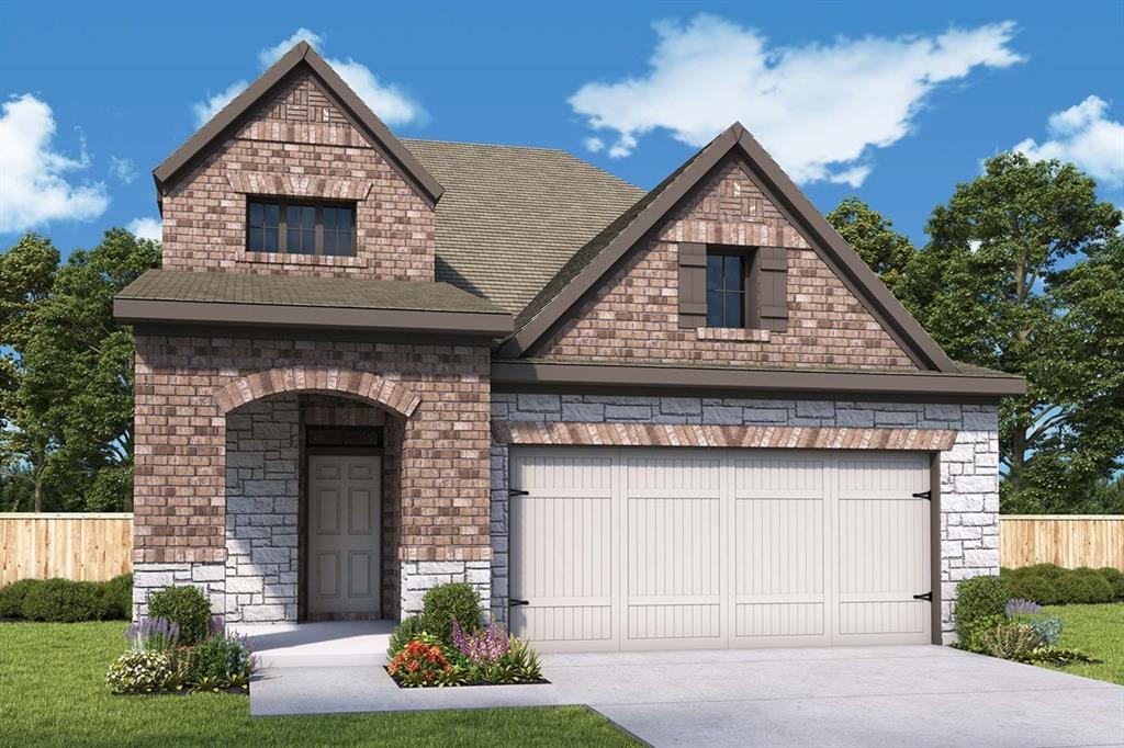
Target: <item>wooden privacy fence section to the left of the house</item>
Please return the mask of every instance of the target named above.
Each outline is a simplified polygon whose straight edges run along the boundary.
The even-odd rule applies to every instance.
[[[0,513],[0,585],[133,571],[133,514]]]

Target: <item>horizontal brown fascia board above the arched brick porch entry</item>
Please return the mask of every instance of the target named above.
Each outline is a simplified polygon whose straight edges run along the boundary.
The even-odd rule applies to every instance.
[[[151,299],[115,299],[114,318],[123,325],[285,327],[487,336],[490,338],[510,335],[514,326],[511,316],[506,312],[297,307]]]

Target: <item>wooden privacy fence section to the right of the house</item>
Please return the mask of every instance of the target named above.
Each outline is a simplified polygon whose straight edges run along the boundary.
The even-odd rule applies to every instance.
[[[999,563],[1115,566],[1124,572],[1124,514],[1004,514]]]

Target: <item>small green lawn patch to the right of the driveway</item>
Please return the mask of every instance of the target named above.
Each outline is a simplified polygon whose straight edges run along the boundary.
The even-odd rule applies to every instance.
[[[1064,627],[1061,646],[1080,649],[1103,664],[1044,665],[1054,671],[1124,685],[1124,603],[1102,605],[1050,605]]]

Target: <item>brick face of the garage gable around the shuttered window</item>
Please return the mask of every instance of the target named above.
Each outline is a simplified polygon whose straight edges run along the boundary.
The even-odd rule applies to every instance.
[[[679,241],[788,249],[788,330],[679,328]],[[858,298],[729,161],[534,349],[552,359],[916,370]]]

